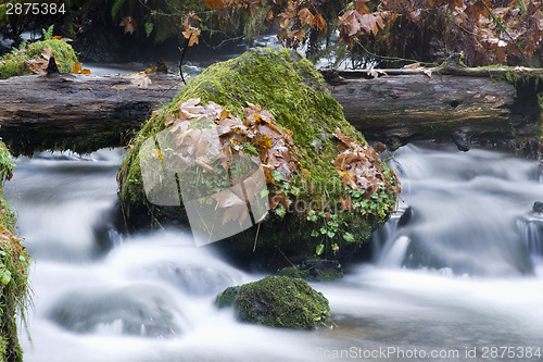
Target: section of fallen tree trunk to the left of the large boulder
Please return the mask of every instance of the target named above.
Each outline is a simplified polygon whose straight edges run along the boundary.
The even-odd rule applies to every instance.
[[[169,102],[181,87],[180,77],[154,72],[0,80],[0,137],[14,154],[123,146],[151,111]]]

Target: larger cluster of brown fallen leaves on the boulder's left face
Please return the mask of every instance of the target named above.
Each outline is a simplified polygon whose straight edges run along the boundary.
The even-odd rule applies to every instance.
[[[299,173],[301,167],[294,152],[292,132],[279,127],[272,113],[258,104],[248,102],[243,116],[240,117],[214,102],[201,104],[200,98],[179,103],[173,112],[164,115],[164,125],[174,134],[177,149],[173,152],[179,162],[189,166],[198,165],[211,173],[217,173],[222,167],[227,171],[230,185],[251,177],[249,175],[257,165],[264,171],[266,184],[269,185],[269,209],[288,209],[289,197],[282,190],[277,190],[276,186],[278,183],[290,182],[291,175]],[[205,125],[201,127],[203,123]],[[218,142],[215,141],[217,137]],[[243,166],[245,173],[240,174],[241,164],[239,158],[235,158],[243,153],[251,158],[252,164]],[[216,159],[213,159],[215,155]],[[231,167],[238,171],[232,172]],[[306,173],[308,176],[307,171]],[[220,208],[244,204],[242,197],[231,191],[220,192],[214,199]],[[244,208],[247,212],[247,207]],[[239,219],[239,211],[236,219],[232,212],[225,212],[224,222]]]

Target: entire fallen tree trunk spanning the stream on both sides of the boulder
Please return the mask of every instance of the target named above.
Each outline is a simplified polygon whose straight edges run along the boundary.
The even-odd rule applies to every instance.
[[[392,148],[429,138],[452,138],[467,149],[473,137],[541,137],[543,70],[440,66],[321,73],[346,120],[368,139]],[[175,75],[148,75],[150,84],[141,75],[0,80],[0,137],[15,154],[126,145],[150,112],[182,86]]]

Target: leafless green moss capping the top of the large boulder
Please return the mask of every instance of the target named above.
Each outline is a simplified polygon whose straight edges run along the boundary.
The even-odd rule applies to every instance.
[[[199,97],[233,114],[242,114],[245,102],[272,111],[281,126],[293,132],[300,163],[311,172],[312,182],[330,192],[339,192],[337,185],[341,184],[331,164],[338,154],[331,134],[339,127],[346,136],[365,142],[345,121],[341,105],[328,95],[320,74],[310,61],[293,61],[287,50],[268,49],[250,50],[239,58],[210,66],[144,125],[140,137],[147,138],[164,129],[166,114],[180,102]],[[318,143],[318,148],[311,146],[312,142]],[[127,159],[129,163],[132,161],[130,157]],[[127,172],[129,178],[139,178],[138,170]],[[123,188],[122,192],[122,197],[129,199],[141,199],[143,195],[141,186]]]

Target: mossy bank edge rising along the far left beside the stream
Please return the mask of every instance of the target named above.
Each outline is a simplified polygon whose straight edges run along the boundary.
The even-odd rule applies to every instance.
[[[29,257],[12,232],[15,216],[2,198],[3,182],[11,178],[13,165],[5,145],[0,141],[0,361],[23,360],[18,345],[16,314],[24,312]]]

